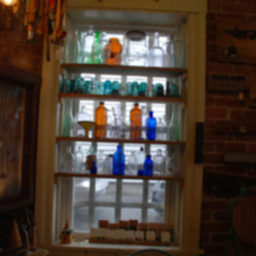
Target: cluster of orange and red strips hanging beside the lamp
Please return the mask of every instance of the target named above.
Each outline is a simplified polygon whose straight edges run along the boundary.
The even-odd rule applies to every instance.
[[[67,37],[65,0],[0,0],[0,3],[3,11],[12,9],[15,17],[26,27],[29,43],[35,38],[45,37],[48,60],[49,43],[64,44],[64,39]]]

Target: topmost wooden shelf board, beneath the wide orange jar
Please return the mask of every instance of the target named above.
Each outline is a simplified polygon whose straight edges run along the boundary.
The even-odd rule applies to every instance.
[[[186,68],[174,67],[131,67],[106,64],[76,64],[64,63],[61,68],[68,73],[105,73],[139,76],[180,76],[187,73]]]

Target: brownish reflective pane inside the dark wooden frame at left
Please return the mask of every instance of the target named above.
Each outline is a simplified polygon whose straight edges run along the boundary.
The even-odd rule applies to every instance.
[[[5,84],[0,90],[0,200],[20,195],[26,91]]]

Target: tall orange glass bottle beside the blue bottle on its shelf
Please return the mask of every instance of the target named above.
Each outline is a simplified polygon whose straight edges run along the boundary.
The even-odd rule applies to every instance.
[[[142,138],[142,110],[138,107],[138,103],[134,104],[134,108],[130,112],[131,120],[131,139]]]

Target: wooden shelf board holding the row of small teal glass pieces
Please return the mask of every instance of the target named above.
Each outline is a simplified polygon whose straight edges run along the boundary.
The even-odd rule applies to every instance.
[[[96,94],[85,94],[85,93],[59,93],[59,99],[61,101],[62,98],[83,98],[83,99],[91,99],[94,98],[96,100],[108,100],[108,101],[132,101],[132,102],[172,102],[172,103],[183,103],[186,102],[183,98],[175,98],[175,97],[148,97],[148,96],[119,96],[119,95],[96,95]]]

